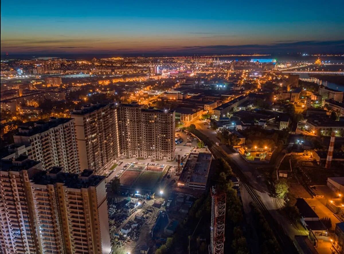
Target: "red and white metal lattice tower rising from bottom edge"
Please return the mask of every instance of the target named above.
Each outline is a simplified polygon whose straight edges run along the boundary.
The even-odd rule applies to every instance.
[[[226,193],[212,187],[212,224],[210,252],[223,254],[225,243]]]

